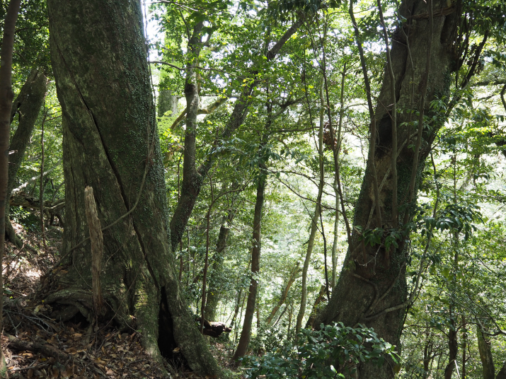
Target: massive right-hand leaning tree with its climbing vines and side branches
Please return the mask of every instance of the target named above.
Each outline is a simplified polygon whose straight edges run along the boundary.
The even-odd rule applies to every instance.
[[[403,0],[391,38],[380,0],[377,5],[386,64],[375,110],[350,5],[369,92],[371,148],[343,270],[316,325],[363,324],[399,346],[406,310],[413,302],[406,286],[407,240],[425,159],[459,93],[476,73],[490,30],[504,24],[503,18],[493,16],[504,14],[504,5],[490,1],[468,8],[464,0]],[[473,47],[470,37],[477,41]],[[437,109],[431,107],[434,100],[439,100]],[[393,378],[394,368],[393,363],[382,368],[364,363],[359,377]]]

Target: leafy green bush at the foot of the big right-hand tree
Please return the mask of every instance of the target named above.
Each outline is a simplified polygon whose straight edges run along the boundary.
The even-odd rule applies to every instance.
[[[360,362],[379,366],[386,357],[397,363],[394,346],[379,338],[373,329],[345,327],[343,323],[321,325],[321,330],[303,329],[295,344],[287,343],[265,356],[246,356],[246,378],[330,379],[353,373]]]

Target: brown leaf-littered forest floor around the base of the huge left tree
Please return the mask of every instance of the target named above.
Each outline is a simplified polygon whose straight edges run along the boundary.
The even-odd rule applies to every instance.
[[[33,249],[19,250],[6,243],[4,274],[4,351],[10,378],[202,378],[173,366],[161,367],[140,344],[137,332],[120,332],[110,325],[92,330],[86,320],[57,322],[50,305],[36,303],[33,294],[40,278],[57,262],[61,231],[51,227],[47,248],[40,233],[26,231],[14,223],[18,235]],[[231,350],[226,344],[210,342],[212,354],[224,368]],[[207,378],[207,377],[206,377]]]

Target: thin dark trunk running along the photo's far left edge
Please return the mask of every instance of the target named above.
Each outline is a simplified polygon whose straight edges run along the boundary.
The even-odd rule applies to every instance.
[[[14,31],[21,0],[11,0],[8,4],[4,21],[4,37],[0,57],[0,263],[4,261],[5,245],[5,209],[8,203],[8,140],[11,132],[11,108],[14,94],[12,92],[12,52],[14,48]],[[0,288],[4,288],[4,278],[0,272]],[[4,296],[0,296],[0,337],[4,331],[2,315]],[[0,348],[0,377],[6,378],[4,351]]]

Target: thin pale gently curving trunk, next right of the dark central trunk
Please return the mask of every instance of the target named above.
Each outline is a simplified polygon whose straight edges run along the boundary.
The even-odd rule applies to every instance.
[[[320,182],[318,184],[318,197],[316,197],[316,206],[314,209],[313,218],[311,218],[311,232],[309,233],[309,241],[307,243],[306,258],[304,260],[304,267],[302,267],[302,291],[301,291],[301,308],[297,314],[297,324],[295,331],[298,333],[302,327],[302,320],[306,312],[307,302],[307,271],[309,269],[309,262],[311,261],[311,253],[314,247],[314,238],[316,231],[318,231],[318,222],[320,221],[321,212],[321,195],[323,193],[324,185],[324,168],[323,168],[323,116],[325,115],[325,102],[323,100],[323,86],[320,90],[321,110],[320,110],[320,128],[318,130],[318,161],[320,162]]]

